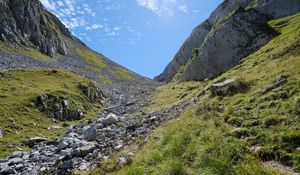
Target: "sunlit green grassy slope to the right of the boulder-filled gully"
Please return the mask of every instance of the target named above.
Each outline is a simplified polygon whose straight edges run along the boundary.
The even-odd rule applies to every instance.
[[[282,34],[216,79],[188,82],[198,86],[189,94],[206,90],[207,95],[198,97],[199,104],[179,120],[160,127],[131,165],[112,174],[277,174],[260,163],[268,160],[300,172],[300,14],[270,25]],[[256,93],[282,73],[289,74],[286,84],[265,95]],[[210,97],[209,85],[228,78],[243,79],[251,88]],[[186,93],[180,87],[186,83],[161,87],[149,108],[179,101]]]

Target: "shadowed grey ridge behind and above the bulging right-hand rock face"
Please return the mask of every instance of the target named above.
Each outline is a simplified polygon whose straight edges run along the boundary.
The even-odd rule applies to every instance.
[[[224,70],[219,70],[212,72],[211,70],[206,70],[205,68],[198,67],[198,68],[191,68],[194,71],[193,75],[189,75],[189,73],[186,73],[184,77],[180,77],[181,73],[184,68],[184,65],[186,65],[190,58],[193,56],[192,55],[192,50],[193,49],[198,49],[202,47],[202,44],[205,43],[206,37],[209,37],[209,33],[211,30],[214,30],[213,28],[218,27],[218,23],[220,20],[222,20],[225,17],[230,18],[234,11],[236,11],[238,8],[242,7],[246,10],[249,8],[254,8],[257,10],[259,13],[265,16],[266,20],[265,22],[269,21],[270,19],[275,19],[275,18],[280,18],[284,16],[289,16],[292,15],[298,11],[300,11],[300,3],[299,1],[296,0],[288,0],[285,1],[285,3],[281,3],[282,1],[280,0],[260,0],[260,1],[255,1],[255,0],[239,0],[239,1],[233,1],[233,0],[226,0],[224,1],[221,5],[217,7],[217,9],[211,14],[211,16],[204,21],[202,24],[197,26],[192,34],[188,37],[188,39],[183,43],[173,60],[168,64],[168,66],[165,68],[163,73],[160,75],[156,76],[155,79],[158,81],[165,81],[165,82],[170,82],[174,79],[174,77],[177,75],[177,80],[179,81],[186,81],[186,80],[204,80],[206,78],[210,78],[211,76],[216,76]],[[247,28],[244,28],[241,30],[241,32],[237,35],[242,36],[243,31],[247,30]],[[219,38],[222,39],[222,38]],[[201,52],[201,51],[200,51]],[[243,56],[242,56],[243,57]],[[238,57],[236,57],[238,58]],[[235,58],[235,59],[236,59]],[[201,58],[199,57],[198,60],[205,60],[208,58]],[[220,58],[221,59],[221,58]],[[197,61],[196,61],[197,62]],[[201,63],[197,64],[201,64]],[[192,64],[191,64],[192,65]],[[236,65],[236,64],[235,64]],[[186,66],[188,67],[188,66]],[[228,68],[231,68],[232,66],[225,67],[226,70]],[[198,73],[197,71],[201,71],[202,69],[204,72],[204,75],[201,75],[201,73]],[[216,67],[215,70],[218,69],[224,69],[222,66]],[[179,75],[178,75],[179,74]],[[195,74],[200,74],[199,77]]]

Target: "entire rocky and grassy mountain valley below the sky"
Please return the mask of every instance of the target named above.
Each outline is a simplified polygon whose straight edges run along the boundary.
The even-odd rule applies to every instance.
[[[0,174],[300,173],[298,1],[225,0],[154,80],[22,3],[0,1]]]

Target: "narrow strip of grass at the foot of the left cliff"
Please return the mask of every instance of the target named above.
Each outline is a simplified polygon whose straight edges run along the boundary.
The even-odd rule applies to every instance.
[[[30,47],[25,47],[25,46],[12,46],[7,43],[1,42],[0,41],[0,51],[7,53],[7,54],[16,54],[16,55],[22,55],[22,56],[27,56],[30,58],[34,58],[37,60],[41,61],[49,61],[53,60],[53,58],[48,57],[47,55],[42,54],[38,50]]]

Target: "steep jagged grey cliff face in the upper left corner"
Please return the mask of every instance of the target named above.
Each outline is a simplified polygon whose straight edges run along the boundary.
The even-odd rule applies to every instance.
[[[38,0],[0,0],[0,40],[30,46],[43,54],[67,54],[68,29]]]

